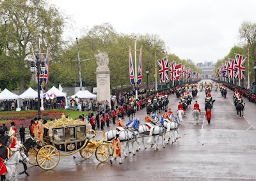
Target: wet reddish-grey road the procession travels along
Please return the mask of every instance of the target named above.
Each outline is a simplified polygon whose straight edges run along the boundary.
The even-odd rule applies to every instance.
[[[109,160],[99,163],[95,156],[88,160],[79,154],[76,159],[61,157],[53,170],[29,165],[30,176],[19,175],[18,180],[256,180],[256,105],[244,99],[244,117],[239,118],[232,95],[228,90],[224,99],[219,90],[212,91],[216,101],[208,125],[203,109],[205,92],[198,92],[195,100],[202,109],[199,125],[195,126],[190,107],[179,127],[180,138],[165,148],[159,144],[159,150],[154,151],[147,145],[135,156],[125,157],[121,165],[117,161],[111,165]],[[169,100],[168,107],[177,110],[179,99],[172,95]],[[143,122],[145,114],[146,110],[140,110],[136,117]]]

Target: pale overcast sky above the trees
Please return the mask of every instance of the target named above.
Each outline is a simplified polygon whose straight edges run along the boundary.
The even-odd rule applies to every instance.
[[[74,20],[72,32],[105,22],[117,33],[158,34],[169,54],[216,62],[239,43],[242,22],[256,23],[255,0],[51,0]],[[132,46],[132,45],[131,45]],[[170,60],[172,61],[172,60]]]

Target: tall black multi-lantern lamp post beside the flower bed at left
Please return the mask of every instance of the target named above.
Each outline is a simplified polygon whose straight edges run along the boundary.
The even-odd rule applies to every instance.
[[[39,56],[36,55],[36,62],[31,61],[31,67],[30,70],[32,73],[36,71],[37,75],[37,111],[38,111],[38,117],[41,116],[41,99],[40,99],[40,71],[45,72],[45,62],[39,60]]]

